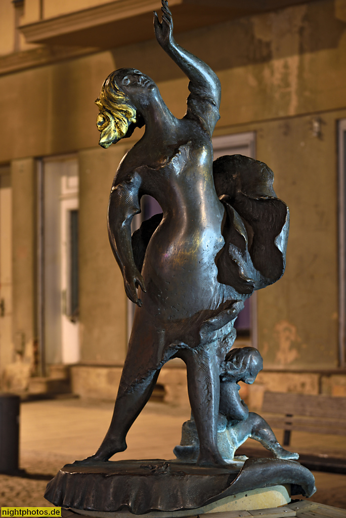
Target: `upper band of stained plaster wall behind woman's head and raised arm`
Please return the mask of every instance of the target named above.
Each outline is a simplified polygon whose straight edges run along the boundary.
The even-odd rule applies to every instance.
[[[341,15],[325,0],[179,34],[179,43],[221,79],[218,128],[344,107]],[[93,147],[93,102],[105,77],[120,67],[151,76],[169,108],[183,115],[186,78],[155,41],[21,71],[0,77],[0,109],[16,106],[16,117],[0,129],[0,162]]]

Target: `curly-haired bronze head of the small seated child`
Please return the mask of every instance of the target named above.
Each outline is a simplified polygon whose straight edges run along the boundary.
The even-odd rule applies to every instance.
[[[243,381],[251,384],[263,369],[261,354],[254,347],[231,349],[221,364],[221,381]]]

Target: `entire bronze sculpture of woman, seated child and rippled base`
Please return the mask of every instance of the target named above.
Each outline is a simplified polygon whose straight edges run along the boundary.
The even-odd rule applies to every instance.
[[[284,272],[289,211],[273,191],[273,173],[266,164],[242,155],[213,162],[211,136],[219,119],[220,81],[176,43],[167,2],[162,2],[162,22],[154,14],[154,28],[158,43],[190,80],[188,110],[182,119],[174,117],[152,79],[132,68],[110,74],[96,100],[104,148],[145,124],[143,137],[119,165],[108,210],[111,247],[126,294],[138,307],[105,439],[94,455],[65,466],[49,484],[46,497],[65,507],[127,507],[145,513],[193,509],[232,491],[276,483],[294,483],[309,495],[314,487],[310,472],[287,460],[297,455],[283,450],[267,423],[246,414],[234,395],[237,381],[254,380],[262,358],[258,354],[256,367],[251,370],[248,362],[242,371],[247,351],[238,351],[238,367],[230,351],[236,337],[233,324],[244,300]],[[132,236],[131,221],[145,194],[157,200],[163,213],[143,222]],[[254,350],[251,354],[256,356]],[[129,428],[148,401],[161,367],[174,357],[185,362],[188,373],[195,430],[191,455],[184,450],[189,444],[182,444],[176,448],[178,461],[109,462],[126,449]],[[252,434],[279,458],[248,459],[238,476],[237,463],[230,465],[218,447],[219,411],[231,423],[233,445]],[[105,473],[112,474],[113,482],[105,480]],[[143,473],[151,477],[152,491],[143,490]],[[203,483],[200,474],[207,477]],[[78,475],[83,475],[83,497]],[[126,479],[121,487],[119,477]],[[164,483],[188,486],[164,501],[162,488],[158,490]],[[124,490],[129,486],[132,494]],[[139,493],[141,501],[133,497]]]

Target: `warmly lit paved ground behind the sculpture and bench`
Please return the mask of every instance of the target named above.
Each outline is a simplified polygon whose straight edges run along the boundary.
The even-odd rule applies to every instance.
[[[109,402],[79,399],[23,403],[20,467],[26,475],[0,475],[0,506],[51,506],[43,496],[47,482],[64,464],[96,451],[108,428],[112,408]],[[188,409],[149,402],[129,431],[128,449],[117,458],[172,458],[186,419]],[[346,456],[346,438],[292,434],[294,451],[322,452],[325,444],[328,452]],[[346,509],[346,475],[314,475],[318,492],[312,500]]]

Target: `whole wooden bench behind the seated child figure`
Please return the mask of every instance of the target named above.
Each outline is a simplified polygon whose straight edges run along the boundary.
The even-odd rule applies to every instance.
[[[265,392],[259,414],[272,428],[284,430],[284,447],[290,445],[292,430],[346,436],[346,397]],[[280,438],[278,440],[281,442]],[[346,453],[343,452],[342,458],[330,456],[327,451],[328,445],[324,452],[300,453],[299,462],[311,470],[346,474]],[[249,457],[272,456],[263,449],[244,445],[236,454]]]

